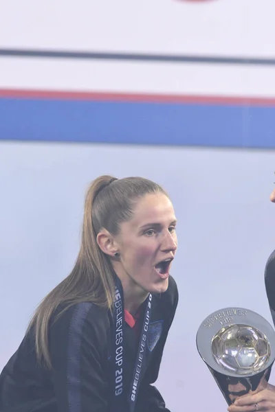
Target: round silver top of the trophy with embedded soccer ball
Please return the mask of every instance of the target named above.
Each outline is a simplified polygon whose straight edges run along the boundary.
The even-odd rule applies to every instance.
[[[221,374],[253,376],[274,362],[275,332],[252,310],[224,308],[199,326],[197,350],[203,361]]]

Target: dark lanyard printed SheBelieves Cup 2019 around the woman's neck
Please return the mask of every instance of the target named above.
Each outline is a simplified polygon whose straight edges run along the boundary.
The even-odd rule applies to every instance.
[[[133,412],[140,380],[146,366],[146,349],[148,339],[148,325],[151,319],[152,295],[146,299],[146,309],[140,334],[140,342],[135,359],[133,378],[130,385],[130,393],[125,394],[124,389],[124,298],[122,284],[119,279],[115,282],[115,304],[113,307],[113,331],[112,331],[112,369],[111,369],[111,412]],[[128,400],[128,402],[126,402]]]

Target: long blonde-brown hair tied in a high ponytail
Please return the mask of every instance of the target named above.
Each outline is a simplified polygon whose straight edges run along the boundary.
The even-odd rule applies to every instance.
[[[49,323],[61,304],[64,308],[58,316],[70,306],[85,301],[112,308],[113,266],[98,246],[96,236],[103,227],[113,236],[117,235],[121,223],[133,216],[135,203],[146,194],[157,193],[166,194],[157,183],[142,177],[116,179],[107,175],[99,176],[91,183],[85,196],[82,239],[74,268],[41,301],[28,326],[28,330],[34,328],[39,362],[52,366],[48,347]]]

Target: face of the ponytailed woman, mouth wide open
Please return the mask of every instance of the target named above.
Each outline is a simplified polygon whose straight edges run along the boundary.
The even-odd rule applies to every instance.
[[[165,194],[147,194],[135,206],[133,218],[115,236],[120,260],[117,275],[147,293],[164,293],[177,250],[176,218]],[[129,278],[129,279],[127,279]]]

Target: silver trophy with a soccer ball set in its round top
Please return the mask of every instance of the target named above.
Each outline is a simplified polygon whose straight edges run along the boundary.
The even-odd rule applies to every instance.
[[[225,308],[201,323],[197,350],[230,405],[245,393],[267,387],[275,359],[275,332],[252,310]]]

